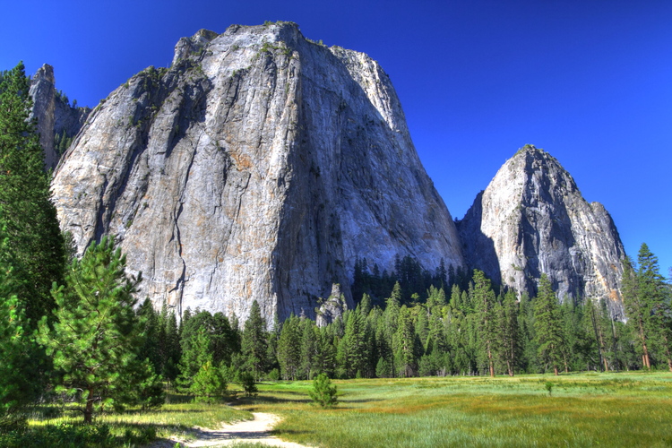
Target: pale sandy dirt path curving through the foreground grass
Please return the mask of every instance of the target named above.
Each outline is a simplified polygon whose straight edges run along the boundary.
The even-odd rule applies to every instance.
[[[280,446],[286,448],[307,448],[306,445],[295,444],[293,442],[284,442],[269,431],[275,426],[280,418],[275,414],[265,412],[253,412],[254,420],[237,422],[231,425],[221,426],[220,429],[198,428],[194,433],[196,440],[190,442],[182,441],[163,441],[165,444],[155,444],[152,447],[159,448],[163,446],[172,446],[180,442],[182,446],[228,446],[241,442],[250,444],[267,444],[270,446]]]

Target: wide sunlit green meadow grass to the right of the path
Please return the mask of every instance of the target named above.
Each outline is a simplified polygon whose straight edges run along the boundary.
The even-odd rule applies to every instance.
[[[335,383],[336,409],[312,405],[310,382],[262,384],[239,408],[283,416],[275,431],[282,439],[328,447],[672,445],[669,374]]]

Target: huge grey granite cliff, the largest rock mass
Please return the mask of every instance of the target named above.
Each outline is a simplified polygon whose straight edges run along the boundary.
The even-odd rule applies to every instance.
[[[293,23],[180,39],[93,110],[53,191],[80,253],[116,234],[178,311],[314,316],[332,283],[352,305],[357,257],[463,263],[383,69]]]

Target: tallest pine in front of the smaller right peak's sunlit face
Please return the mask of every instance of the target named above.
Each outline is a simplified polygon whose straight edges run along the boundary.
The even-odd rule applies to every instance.
[[[558,375],[558,366],[563,362],[562,315],[557,306],[556,293],[546,274],[539,279],[538,295],[534,300],[534,330],[539,356],[547,366],[553,366]]]

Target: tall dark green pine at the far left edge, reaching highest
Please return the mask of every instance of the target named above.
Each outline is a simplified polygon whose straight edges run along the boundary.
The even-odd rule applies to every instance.
[[[52,282],[63,283],[65,241],[50,202],[49,175],[22,63],[0,76],[0,226],[21,279],[16,296],[33,325],[54,306]]]

